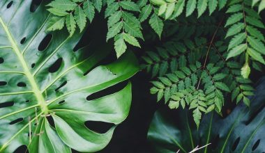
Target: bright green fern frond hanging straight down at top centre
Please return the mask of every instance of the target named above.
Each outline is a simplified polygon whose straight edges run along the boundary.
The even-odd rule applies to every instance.
[[[107,19],[107,40],[114,38],[116,56],[119,58],[127,49],[126,42],[135,47],[140,47],[137,38],[144,40],[142,27],[134,12],[139,12],[137,3],[124,1],[108,1],[105,11]]]

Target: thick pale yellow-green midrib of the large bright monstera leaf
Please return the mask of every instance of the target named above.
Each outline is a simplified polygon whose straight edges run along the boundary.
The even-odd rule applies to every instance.
[[[3,22],[3,19],[0,16],[0,24],[3,27],[3,30],[6,32],[6,35],[8,36],[8,40],[11,43],[11,47],[13,49],[13,51],[15,52],[15,54],[17,55],[17,58],[19,59],[23,70],[24,70],[24,74],[26,75],[27,79],[29,80],[29,83],[31,84],[32,87],[32,91],[33,94],[35,95],[36,99],[38,100],[38,104],[40,105],[40,108],[42,109],[42,111],[44,113],[48,113],[48,109],[47,109],[47,105],[45,102],[45,99],[43,97],[43,95],[40,92],[40,89],[38,88],[38,85],[33,77],[33,75],[31,74],[29,67],[27,66],[27,63],[24,59],[24,56],[22,55],[22,51],[20,51],[20,49],[17,47],[17,44],[13,38],[13,36],[11,35],[8,26],[6,26],[6,24]]]

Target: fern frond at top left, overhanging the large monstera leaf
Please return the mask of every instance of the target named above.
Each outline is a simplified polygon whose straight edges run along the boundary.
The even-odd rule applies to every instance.
[[[55,17],[49,20],[50,26],[47,31],[61,30],[66,24],[70,36],[75,33],[77,26],[82,32],[86,27],[86,18],[92,22],[95,16],[95,8],[100,12],[102,5],[102,0],[54,0],[47,5],[50,7],[47,10],[58,17],[56,17],[56,20]]]

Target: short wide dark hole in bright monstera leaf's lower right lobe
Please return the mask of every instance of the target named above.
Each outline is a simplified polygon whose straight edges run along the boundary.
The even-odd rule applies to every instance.
[[[105,134],[111,127],[114,126],[113,123],[108,122],[98,122],[98,121],[86,121],[84,125],[91,129],[92,131],[96,131],[99,134]]]

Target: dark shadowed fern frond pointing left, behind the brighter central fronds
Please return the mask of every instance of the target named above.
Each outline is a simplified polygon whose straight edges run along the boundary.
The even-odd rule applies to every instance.
[[[147,51],[147,55],[142,56],[146,62],[142,67],[151,72],[152,77],[156,77],[174,72],[178,67],[185,67],[188,62],[195,64],[195,61],[204,55],[207,44],[205,38],[195,40],[195,44],[190,40],[183,40],[182,43],[175,43],[175,40],[172,40],[162,47],[157,47],[156,51]]]

